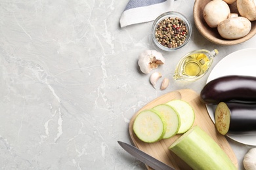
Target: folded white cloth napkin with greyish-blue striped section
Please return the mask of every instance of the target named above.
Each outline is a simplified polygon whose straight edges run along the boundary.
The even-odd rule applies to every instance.
[[[120,26],[150,22],[163,12],[172,10],[173,0],[129,0],[121,14]]]

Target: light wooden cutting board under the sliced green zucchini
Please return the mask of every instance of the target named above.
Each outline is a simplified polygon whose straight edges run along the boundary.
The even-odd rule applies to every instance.
[[[186,163],[184,163],[184,161],[181,160],[181,158],[176,156],[173,152],[171,152],[171,150],[168,149],[169,146],[171,146],[171,144],[181,136],[180,134],[175,135],[174,137],[171,137],[169,139],[162,139],[161,141],[158,141],[156,143],[144,143],[140,141],[140,139],[135,135],[133,131],[133,122],[139,112],[145,109],[152,109],[152,107],[155,107],[156,105],[160,105],[162,103],[167,103],[167,101],[171,101],[172,99],[182,99],[190,103],[196,114],[196,119],[193,126],[198,125],[206,133],[208,133],[216,141],[216,143],[219,144],[221,148],[223,148],[224,152],[226,152],[234,165],[238,167],[238,161],[230,144],[228,143],[226,138],[218,133],[218,131],[216,130],[215,125],[209,117],[205,104],[200,101],[200,96],[198,95],[198,93],[188,89],[166,93],[165,95],[154,99],[154,101],[151,101],[134,114],[134,116],[131,118],[131,122],[129,123],[129,133],[135,146],[140,150],[146,152],[147,154],[150,154],[154,158],[163,161],[171,167],[174,167],[175,169],[191,169]],[[146,167],[148,169],[151,169],[147,165]]]

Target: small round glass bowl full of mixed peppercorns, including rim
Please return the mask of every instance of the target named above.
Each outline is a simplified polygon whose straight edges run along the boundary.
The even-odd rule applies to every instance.
[[[167,52],[182,48],[190,40],[192,27],[179,12],[165,12],[152,26],[152,39],[156,46]]]

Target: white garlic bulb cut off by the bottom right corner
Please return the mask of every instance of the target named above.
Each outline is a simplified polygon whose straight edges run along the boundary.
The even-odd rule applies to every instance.
[[[256,148],[251,148],[244,156],[244,168],[246,170],[256,169]]]

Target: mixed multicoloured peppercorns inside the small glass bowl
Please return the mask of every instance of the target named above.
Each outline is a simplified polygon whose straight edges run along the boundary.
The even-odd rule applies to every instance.
[[[165,18],[156,27],[156,40],[167,48],[181,46],[188,35],[188,28],[181,18]]]

